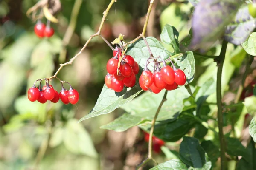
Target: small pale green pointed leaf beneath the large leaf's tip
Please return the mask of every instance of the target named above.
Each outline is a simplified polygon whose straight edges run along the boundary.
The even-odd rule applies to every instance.
[[[113,122],[110,122],[107,125],[103,125],[100,128],[108,129],[108,130],[115,130],[116,132],[123,132],[123,131],[129,129],[130,127],[137,126],[145,121],[147,121],[147,120],[145,120],[139,116],[131,115],[129,113],[124,113],[122,116],[115,119]]]

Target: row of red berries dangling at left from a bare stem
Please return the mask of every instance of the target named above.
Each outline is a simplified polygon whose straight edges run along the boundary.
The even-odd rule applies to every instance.
[[[40,81],[39,89],[35,87],[35,83],[37,81]],[[58,93],[58,91],[54,90],[52,85],[49,85],[49,81],[46,83],[46,85],[43,86],[43,88],[41,88],[41,81],[41,79],[36,80],[34,85],[29,88],[28,98],[31,102],[35,102],[37,100],[40,103],[46,103],[47,100],[49,100],[53,103],[57,103],[59,99],[61,99],[65,105],[69,103],[75,105],[78,102],[79,93],[73,89],[68,82],[66,83],[70,85],[69,91],[63,87],[61,82],[62,89],[60,93]]]

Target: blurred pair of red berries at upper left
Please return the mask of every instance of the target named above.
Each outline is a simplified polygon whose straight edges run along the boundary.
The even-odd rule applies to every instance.
[[[52,37],[52,35],[54,34],[54,29],[50,27],[49,22],[47,22],[46,26],[44,23],[41,23],[41,21],[38,21],[35,24],[34,31],[39,38]]]

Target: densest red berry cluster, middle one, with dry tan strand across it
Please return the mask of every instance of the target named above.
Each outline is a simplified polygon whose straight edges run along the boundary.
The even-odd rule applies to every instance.
[[[139,65],[130,55],[122,56],[122,49],[116,48],[113,51],[113,58],[108,60],[105,84],[108,88],[112,88],[116,92],[121,92],[126,87],[133,87],[136,83],[135,75],[139,73]],[[121,63],[120,68],[118,64]]]

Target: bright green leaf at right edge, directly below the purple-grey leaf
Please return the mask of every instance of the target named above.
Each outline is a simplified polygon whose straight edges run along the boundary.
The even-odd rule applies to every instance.
[[[250,34],[248,40],[242,43],[242,47],[248,54],[256,56],[256,32]]]

